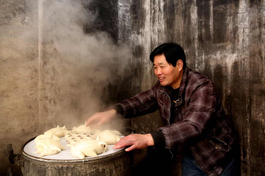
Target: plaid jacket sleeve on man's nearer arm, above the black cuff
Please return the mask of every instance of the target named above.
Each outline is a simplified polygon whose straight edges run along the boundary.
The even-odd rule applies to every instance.
[[[203,132],[216,106],[216,92],[208,78],[191,82],[185,88],[184,105],[178,108],[179,121],[159,128],[165,148],[176,148],[195,140]]]

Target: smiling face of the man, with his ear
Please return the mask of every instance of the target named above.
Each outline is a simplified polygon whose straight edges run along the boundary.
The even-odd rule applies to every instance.
[[[179,63],[181,62],[181,63]],[[158,77],[162,86],[171,86],[174,89],[180,87],[180,82],[183,74],[183,62],[178,60],[175,67],[167,62],[164,55],[154,57],[155,75]]]

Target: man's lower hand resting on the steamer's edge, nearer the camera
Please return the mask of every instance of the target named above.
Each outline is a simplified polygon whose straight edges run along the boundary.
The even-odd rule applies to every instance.
[[[154,140],[151,134],[130,134],[128,136],[125,136],[124,138],[121,138],[119,142],[117,142],[113,149],[126,147],[128,145],[132,145],[129,148],[126,148],[125,151],[131,151],[134,149],[141,149],[145,148],[147,146],[154,145]]]

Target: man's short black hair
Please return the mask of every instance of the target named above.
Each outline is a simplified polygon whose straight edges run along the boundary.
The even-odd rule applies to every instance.
[[[154,63],[154,57],[164,55],[167,62],[176,66],[177,61],[180,59],[183,62],[183,69],[186,67],[186,57],[183,48],[178,43],[164,43],[159,45],[150,54],[150,60]]]

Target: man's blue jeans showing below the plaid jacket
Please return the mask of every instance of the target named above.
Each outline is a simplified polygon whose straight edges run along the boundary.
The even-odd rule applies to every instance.
[[[187,155],[183,156],[181,164],[181,176],[207,176],[201,170],[201,167],[198,165],[198,163]],[[234,158],[226,166],[225,170],[223,170],[220,176],[236,176],[236,162]]]

